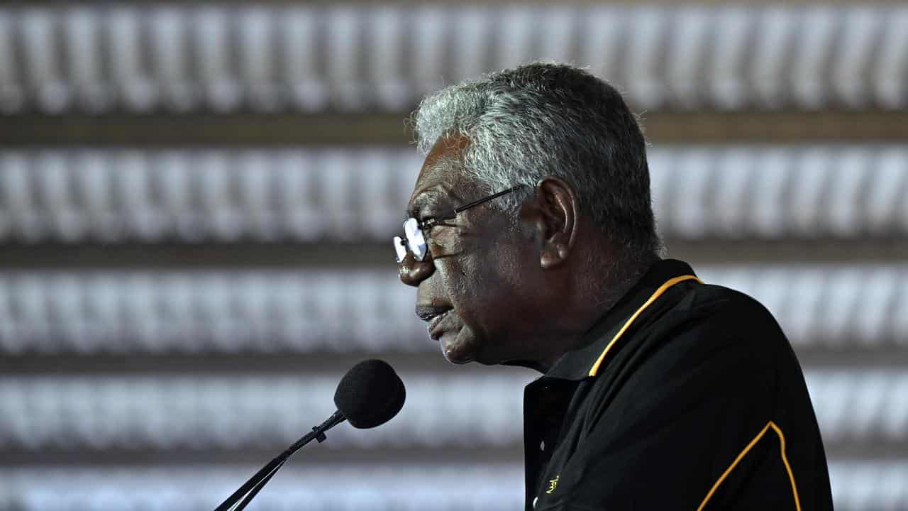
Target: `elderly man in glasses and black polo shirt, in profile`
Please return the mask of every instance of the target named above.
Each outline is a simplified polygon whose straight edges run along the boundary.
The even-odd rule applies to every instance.
[[[527,509],[832,509],[804,376],[753,298],[661,259],[621,96],[529,64],[429,95],[400,279],[455,364],[528,366]]]

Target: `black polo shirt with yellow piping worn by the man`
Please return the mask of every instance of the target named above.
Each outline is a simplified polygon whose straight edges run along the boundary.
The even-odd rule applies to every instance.
[[[524,393],[528,510],[833,508],[801,367],[750,296],[659,261],[578,346]]]

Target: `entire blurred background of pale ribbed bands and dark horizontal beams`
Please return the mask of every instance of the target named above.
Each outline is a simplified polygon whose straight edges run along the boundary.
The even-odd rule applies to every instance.
[[[250,5],[0,6],[0,509],[212,509],[369,357],[400,416],[250,509],[521,509],[536,375],[444,362],[390,237],[419,97],[535,59],[642,115],[669,255],[785,328],[836,507],[908,509],[908,5]]]

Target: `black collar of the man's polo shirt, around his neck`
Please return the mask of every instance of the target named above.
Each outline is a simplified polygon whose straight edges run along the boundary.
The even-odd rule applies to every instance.
[[[596,324],[587,330],[577,343],[577,349],[558,358],[555,365],[548,370],[545,377],[567,380],[582,380],[589,374],[589,369],[596,363],[598,356],[605,349],[612,336],[610,332],[623,325],[627,318],[642,306],[646,299],[653,295],[659,286],[676,276],[695,275],[690,265],[676,259],[662,259],[650,266],[644,276],[600,317]]]

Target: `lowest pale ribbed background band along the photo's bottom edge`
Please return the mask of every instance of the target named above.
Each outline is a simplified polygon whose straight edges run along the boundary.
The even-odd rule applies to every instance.
[[[262,511],[513,511],[522,505],[520,465],[300,465],[286,466],[274,476],[256,496],[254,507]],[[208,511],[257,468],[5,470],[0,472],[0,506],[22,511]],[[904,485],[908,464],[904,462],[832,463],[829,471],[836,508],[900,511],[908,506]],[[359,484],[351,490],[349,481]]]

